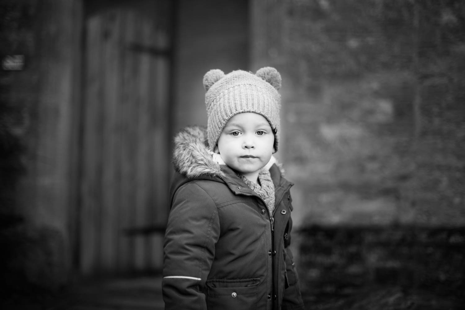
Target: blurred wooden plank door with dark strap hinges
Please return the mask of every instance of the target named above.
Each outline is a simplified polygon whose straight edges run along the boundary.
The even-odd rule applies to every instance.
[[[162,266],[163,235],[126,230],[163,226],[169,210],[167,2],[116,1],[86,14],[78,250],[85,275]]]

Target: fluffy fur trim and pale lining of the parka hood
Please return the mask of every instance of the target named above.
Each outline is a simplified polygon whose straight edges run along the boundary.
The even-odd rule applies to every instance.
[[[269,169],[273,164],[278,165],[284,175],[281,165],[274,157],[266,167]],[[187,178],[198,178],[201,175],[224,178],[221,165],[225,165],[222,158],[208,147],[206,127],[188,126],[175,136],[173,166],[179,174]]]

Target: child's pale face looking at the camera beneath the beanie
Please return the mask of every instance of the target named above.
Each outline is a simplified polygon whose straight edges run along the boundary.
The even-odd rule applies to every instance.
[[[273,144],[270,123],[260,114],[245,112],[228,120],[215,152],[219,152],[226,165],[257,182],[259,170],[270,161]]]

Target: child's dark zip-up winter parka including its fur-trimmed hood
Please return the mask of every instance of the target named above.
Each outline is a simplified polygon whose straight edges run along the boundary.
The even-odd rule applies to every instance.
[[[270,167],[275,209],[206,147],[206,130],[175,138],[162,290],[166,310],[304,309],[292,253],[292,183]]]

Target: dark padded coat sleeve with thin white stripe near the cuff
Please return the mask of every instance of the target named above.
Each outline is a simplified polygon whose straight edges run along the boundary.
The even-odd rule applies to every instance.
[[[164,241],[162,291],[165,309],[206,309],[205,283],[219,237],[218,209],[195,183],[173,199]]]

